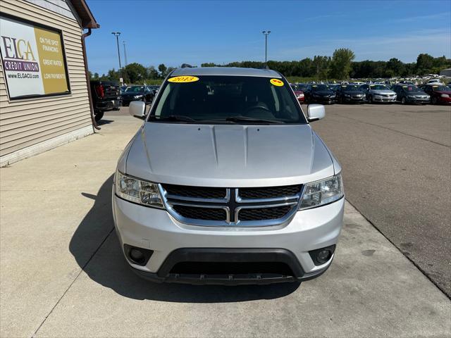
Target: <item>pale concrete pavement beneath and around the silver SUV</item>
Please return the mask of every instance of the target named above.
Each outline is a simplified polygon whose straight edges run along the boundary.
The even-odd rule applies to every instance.
[[[116,161],[141,121],[0,169],[1,337],[450,337],[451,302],[350,204],[335,261],[302,284],[152,284],[113,232]]]

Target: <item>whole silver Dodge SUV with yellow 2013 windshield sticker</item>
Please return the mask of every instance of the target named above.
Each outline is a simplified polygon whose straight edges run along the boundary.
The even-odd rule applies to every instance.
[[[168,75],[118,161],[113,215],[132,270],[156,282],[308,280],[333,260],[341,167],[273,70]]]

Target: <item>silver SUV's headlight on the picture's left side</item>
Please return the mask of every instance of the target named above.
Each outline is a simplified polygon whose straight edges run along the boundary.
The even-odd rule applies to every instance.
[[[159,189],[155,183],[125,176],[119,171],[116,171],[115,180],[116,194],[122,199],[142,204],[143,206],[164,208]]]

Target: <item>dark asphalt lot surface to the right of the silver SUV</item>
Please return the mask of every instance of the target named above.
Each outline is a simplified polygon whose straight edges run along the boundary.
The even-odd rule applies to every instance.
[[[335,104],[312,126],[347,200],[451,296],[451,107]]]

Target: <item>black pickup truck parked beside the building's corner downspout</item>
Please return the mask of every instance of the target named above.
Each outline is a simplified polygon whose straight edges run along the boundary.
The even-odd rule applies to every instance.
[[[104,117],[105,111],[121,107],[119,82],[91,80],[90,85],[94,118],[97,122]]]

